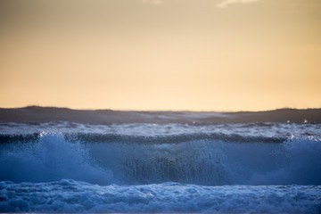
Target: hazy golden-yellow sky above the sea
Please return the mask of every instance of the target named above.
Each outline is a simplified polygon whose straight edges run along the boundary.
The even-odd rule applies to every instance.
[[[321,107],[320,0],[2,0],[0,107]]]

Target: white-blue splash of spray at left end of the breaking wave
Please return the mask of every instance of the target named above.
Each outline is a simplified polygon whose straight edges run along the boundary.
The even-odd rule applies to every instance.
[[[70,178],[94,184],[112,181],[111,170],[98,167],[82,144],[66,142],[62,133],[42,132],[37,142],[1,146],[0,180],[49,182]]]

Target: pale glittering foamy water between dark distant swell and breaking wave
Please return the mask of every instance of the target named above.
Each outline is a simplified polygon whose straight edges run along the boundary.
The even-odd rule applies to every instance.
[[[245,136],[321,136],[321,124],[295,124],[295,123],[240,123],[240,124],[185,124],[185,123],[128,123],[95,125],[81,124],[66,121],[51,121],[45,123],[0,123],[0,133],[3,135],[34,134],[42,131],[55,131],[82,134],[113,134],[161,136],[182,135],[190,133],[222,133],[226,135]]]

